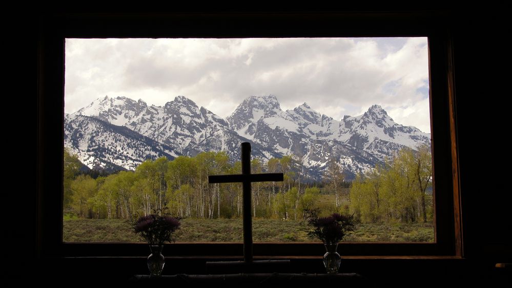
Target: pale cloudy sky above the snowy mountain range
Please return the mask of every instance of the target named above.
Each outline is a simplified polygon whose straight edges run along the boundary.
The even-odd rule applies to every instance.
[[[338,120],[378,104],[429,133],[427,38],[66,39],[66,113],[105,95],[183,95],[225,118],[270,94]]]

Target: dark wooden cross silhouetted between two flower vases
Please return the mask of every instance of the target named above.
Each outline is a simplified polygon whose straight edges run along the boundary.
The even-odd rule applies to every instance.
[[[242,174],[210,175],[209,183],[242,182],[243,197],[243,260],[253,261],[253,230],[251,216],[251,182],[283,181],[283,173],[251,174],[251,143],[242,143]]]

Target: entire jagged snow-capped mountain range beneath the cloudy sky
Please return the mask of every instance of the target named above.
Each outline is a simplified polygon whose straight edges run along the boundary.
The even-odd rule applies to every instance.
[[[103,126],[96,123],[92,127],[91,117],[101,120]],[[107,126],[112,131],[122,127],[125,129],[122,131],[130,130],[133,135],[139,135],[138,139],[147,137],[144,139],[161,145],[155,146],[153,153],[149,153],[149,148],[141,149],[145,152],[137,156],[127,156],[123,154],[125,149],[116,147],[121,154],[117,157],[110,155],[105,161],[125,169],[133,169],[136,163],[148,157],[163,155],[157,151],[167,153],[168,157],[193,156],[201,151],[227,151],[232,160],[237,160],[240,143],[249,141],[253,157],[263,161],[294,155],[316,177],[321,175],[327,161],[334,158],[350,177],[372,169],[377,162],[392,157],[403,147],[415,149],[430,143],[429,134],[396,124],[378,105],[370,107],[363,115],[345,116],[337,121],[316,112],[306,103],[283,111],[273,95],[251,96],[224,120],[183,96],[177,96],[163,107],[148,106],[142,100],[105,96],[66,116],[66,146],[72,147],[91,167],[91,159],[100,161],[98,159],[106,157],[103,150],[106,148],[98,142],[110,139],[108,134],[112,132],[105,128]],[[91,138],[90,133],[95,129],[99,132]],[[84,140],[86,135],[89,140]],[[136,145],[128,138],[118,141],[118,146]],[[100,146],[104,154],[97,154],[96,146]],[[126,153],[135,153],[132,150],[126,150]]]

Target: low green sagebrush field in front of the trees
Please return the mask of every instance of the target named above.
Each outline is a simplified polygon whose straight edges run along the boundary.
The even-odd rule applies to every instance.
[[[177,242],[242,242],[242,219],[183,219]],[[303,221],[253,219],[254,242],[311,242]],[[65,219],[65,242],[141,242],[130,222],[119,219]],[[345,241],[433,242],[432,223],[359,224]]]

